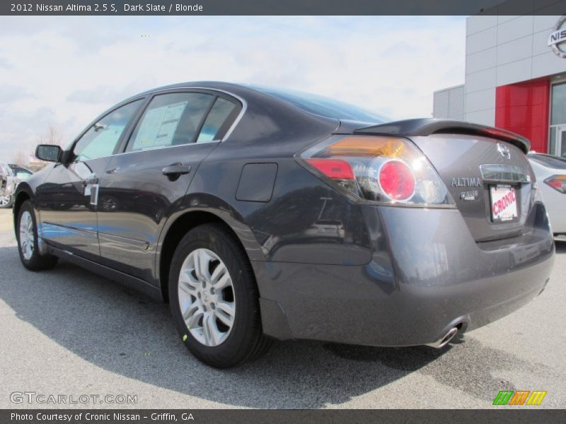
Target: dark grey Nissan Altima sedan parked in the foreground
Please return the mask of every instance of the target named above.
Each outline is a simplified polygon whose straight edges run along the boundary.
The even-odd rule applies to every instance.
[[[185,83],[129,98],[13,206],[33,271],[72,261],[168,300],[204,363],[272,338],[442,347],[548,282],[529,141],[465,122],[384,122],[317,96]]]

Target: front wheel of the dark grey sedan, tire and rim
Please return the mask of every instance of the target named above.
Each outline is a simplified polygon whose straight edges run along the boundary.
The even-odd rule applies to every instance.
[[[18,211],[16,239],[20,260],[25,268],[30,271],[42,271],[52,269],[57,264],[57,257],[51,254],[40,254],[35,213],[29,200],[24,201]]]

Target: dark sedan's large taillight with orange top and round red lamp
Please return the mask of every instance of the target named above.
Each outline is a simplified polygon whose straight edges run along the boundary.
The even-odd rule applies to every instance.
[[[408,139],[332,136],[299,155],[309,170],[358,198],[382,204],[454,204],[427,158]]]

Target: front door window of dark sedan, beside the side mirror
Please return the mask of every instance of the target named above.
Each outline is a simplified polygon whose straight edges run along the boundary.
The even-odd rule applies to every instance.
[[[91,126],[91,129],[86,131],[75,144],[73,150],[75,160],[105,158],[112,155],[118,141],[120,141],[120,136],[122,136],[139,105],[141,105],[141,100],[128,103],[114,112],[110,112]]]

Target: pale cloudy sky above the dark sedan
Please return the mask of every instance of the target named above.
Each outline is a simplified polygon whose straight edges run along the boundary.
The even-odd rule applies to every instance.
[[[327,95],[393,118],[429,117],[463,83],[466,18],[0,17],[0,162],[50,125],[67,144],[140,91],[231,81]]]

